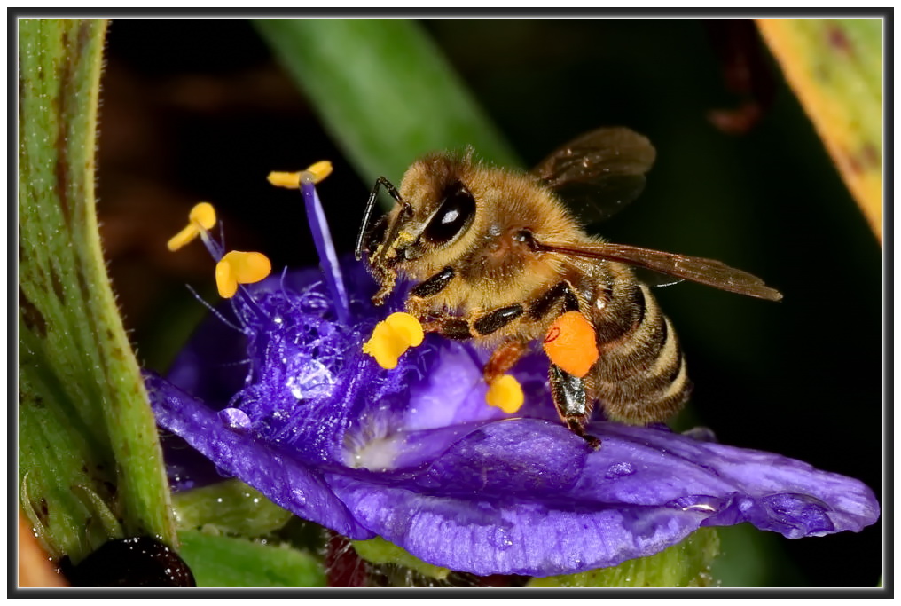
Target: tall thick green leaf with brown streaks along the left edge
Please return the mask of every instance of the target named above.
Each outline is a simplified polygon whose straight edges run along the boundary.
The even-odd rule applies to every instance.
[[[176,541],[156,425],[97,234],[105,29],[19,22],[21,504],[51,554],[75,562],[120,533]]]

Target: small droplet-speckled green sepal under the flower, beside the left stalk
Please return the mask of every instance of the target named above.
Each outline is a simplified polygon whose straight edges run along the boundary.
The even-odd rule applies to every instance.
[[[285,526],[292,515],[239,480],[177,492],[172,505],[179,529],[216,528],[242,537],[274,532]]]

